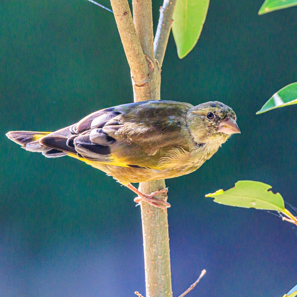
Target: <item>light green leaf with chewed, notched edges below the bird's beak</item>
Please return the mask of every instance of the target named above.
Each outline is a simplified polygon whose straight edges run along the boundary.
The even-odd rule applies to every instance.
[[[268,191],[269,189],[271,186],[260,181],[238,181],[232,189],[221,189],[205,196],[214,198],[214,202],[230,206],[284,211],[282,196]]]

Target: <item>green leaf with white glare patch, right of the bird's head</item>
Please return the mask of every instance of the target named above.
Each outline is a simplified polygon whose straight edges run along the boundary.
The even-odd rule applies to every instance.
[[[297,83],[290,83],[277,91],[256,114],[292,104],[297,104]]]

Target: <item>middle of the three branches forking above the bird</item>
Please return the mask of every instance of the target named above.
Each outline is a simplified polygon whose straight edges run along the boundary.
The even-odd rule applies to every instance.
[[[133,20],[143,53],[155,65],[151,0],[132,0]]]

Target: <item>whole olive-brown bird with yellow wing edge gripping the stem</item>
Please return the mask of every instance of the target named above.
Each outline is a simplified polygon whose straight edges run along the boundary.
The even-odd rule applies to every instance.
[[[148,100],[105,108],[55,132],[10,131],[6,136],[26,151],[48,158],[74,157],[102,170],[164,211],[167,199],[138,191],[132,183],[173,178],[197,170],[231,136],[240,133],[229,106],[209,101],[193,106]]]

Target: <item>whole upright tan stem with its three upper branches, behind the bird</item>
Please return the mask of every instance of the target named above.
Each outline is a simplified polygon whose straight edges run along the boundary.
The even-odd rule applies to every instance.
[[[110,0],[131,70],[134,101],[159,100],[161,67],[172,25],[176,0],[164,0],[156,37],[153,34],[151,0]],[[165,180],[141,182],[141,193],[165,189]],[[162,194],[156,196],[157,199]],[[165,199],[166,200],[166,199]],[[166,201],[165,201],[166,202]],[[140,201],[146,297],[172,297],[167,210]],[[135,292],[139,297],[141,294]]]

